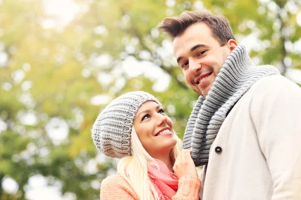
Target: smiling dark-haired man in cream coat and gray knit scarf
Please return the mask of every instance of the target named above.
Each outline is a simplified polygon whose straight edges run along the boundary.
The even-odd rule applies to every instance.
[[[254,66],[224,16],[187,11],[158,28],[200,94],[183,148],[205,165],[203,199],[301,199],[301,88]]]

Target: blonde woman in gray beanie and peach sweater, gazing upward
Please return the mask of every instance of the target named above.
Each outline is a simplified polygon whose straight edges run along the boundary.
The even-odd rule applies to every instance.
[[[97,149],[121,158],[117,174],[101,183],[100,199],[199,199],[201,187],[189,150],[161,103],[143,91],[125,93],[98,115],[92,138]]]

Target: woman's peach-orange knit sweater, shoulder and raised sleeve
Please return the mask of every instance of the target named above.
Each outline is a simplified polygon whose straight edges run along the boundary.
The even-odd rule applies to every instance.
[[[196,176],[183,176],[179,179],[179,189],[172,200],[198,200],[201,181]],[[133,188],[119,174],[111,175],[101,182],[101,200],[140,200]]]

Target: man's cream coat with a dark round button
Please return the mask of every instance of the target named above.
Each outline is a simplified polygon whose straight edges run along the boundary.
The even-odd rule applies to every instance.
[[[301,88],[281,75],[255,82],[223,122],[202,183],[203,200],[301,199]]]

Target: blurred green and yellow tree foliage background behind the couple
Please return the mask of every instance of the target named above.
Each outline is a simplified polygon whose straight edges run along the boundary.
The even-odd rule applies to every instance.
[[[124,92],[158,97],[183,137],[198,96],[156,25],[204,9],[300,85],[300,0],[0,0],[0,199],[99,199],[118,160],[90,130]]]

